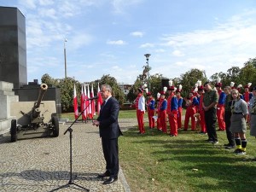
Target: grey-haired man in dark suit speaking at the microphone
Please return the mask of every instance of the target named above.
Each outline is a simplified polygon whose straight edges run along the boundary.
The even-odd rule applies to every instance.
[[[98,177],[109,177],[103,184],[110,184],[118,179],[119,173],[119,147],[118,137],[122,135],[119,129],[119,102],[112,96],[112,88],[108,84],[101,87],[103,99],[99,117],[93,121],[93,125],[100,127],[102,148],[106,160],[106,172]]]

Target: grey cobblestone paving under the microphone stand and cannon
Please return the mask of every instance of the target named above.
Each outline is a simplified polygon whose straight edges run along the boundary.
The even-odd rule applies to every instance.
[[[120,119],[123,131],[137,125],[134,119]],[[70,180],[70,124],[60,124],[59,137],[33,138],[10,143],[10,135],[0,136],[0,191],[130,191],[122,170],[119,180],[109,185],[97,178],[105,171],[98,128],[73,125],[73,183]]]

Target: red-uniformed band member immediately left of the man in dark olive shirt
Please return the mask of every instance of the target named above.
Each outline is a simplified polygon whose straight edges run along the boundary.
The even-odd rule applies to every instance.
[[[207,126],[206,126],[206,122],[205,122],[205,111],[202,108],[202,102],[204,99],[204,87],[202,85],[198,86],[198,102],[199,102],[199,106],[198,106],[198,113],[200,113],[200,125],[201,125],[201,134],[206,134],[207,133]]]

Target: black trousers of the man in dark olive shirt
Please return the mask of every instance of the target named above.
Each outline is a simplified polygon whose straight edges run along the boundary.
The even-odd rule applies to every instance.
[[[207,125],[207,134],[209,140],[218,141],[217,133],[216,133],[216,108],[210,108],[208,111],[205,111],[205,121]]]

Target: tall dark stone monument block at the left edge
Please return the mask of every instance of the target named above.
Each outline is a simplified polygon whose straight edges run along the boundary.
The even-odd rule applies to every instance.
[[[27,84],[26,21],[17,8],[0,7],[0,81]]]

